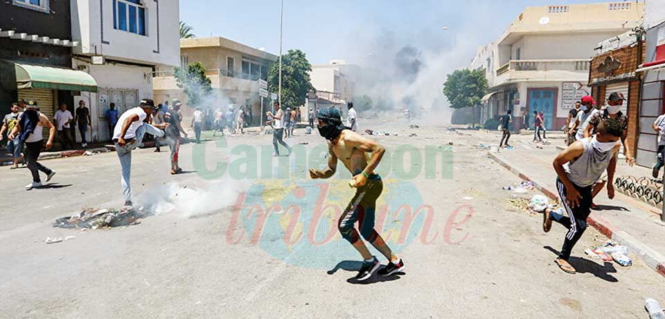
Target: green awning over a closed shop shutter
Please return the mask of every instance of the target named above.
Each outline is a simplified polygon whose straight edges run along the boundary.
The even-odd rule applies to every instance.
[[[14,64],[17,89],[64,89],[97,92],[95,79],[83,71],[31,64]]]

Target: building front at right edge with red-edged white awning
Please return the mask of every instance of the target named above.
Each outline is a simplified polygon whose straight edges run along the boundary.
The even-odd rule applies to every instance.
[[[665,1],[647,1],[644,9],[646,49],[641,74],[637,164],[651,166],[656,159],[657,135],[652,124],[665,113]]]

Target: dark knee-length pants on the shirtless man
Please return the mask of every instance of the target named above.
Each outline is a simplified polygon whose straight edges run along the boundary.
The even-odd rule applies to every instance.
[[[373,243],[378,237],[378,233],[374,230],[374,221],[376,200],[381,195],[382,190],[383,182],[376,174],[369,175],[367,183],[356,189],[355,196],[344,209],[337,225],[342,237],[349,243],[354,244],[360,239],[358,231],[353,227],[356,221],[358,222],[360,235],[366,241]]]

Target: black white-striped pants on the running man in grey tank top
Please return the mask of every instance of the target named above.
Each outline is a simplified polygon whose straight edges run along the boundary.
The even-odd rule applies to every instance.
[[[566,227],[568,232],[566,234],[566,239],[563,241],[563,247],[561,252],[559,252],[559,258],[568,260],[570,257],[570,252],[573,250],[573,246],[580,239],[584,231],[587,229],[587,217],[591,214],[591,202],[593,200],[592,191],[594,186],[579,187],[573,184],[577,191],[580,193],[580,204],[577,207],[570,207],[566,201],[566,187],[563,185],[561,180],[556,179],[556,187],[559,191],[559,197],[561,198],[561,203],[565,207],[568,216],[563,216],[561,214],[556,214],[554,212],[549,213],[549,218],[552,221],[556,221]]]

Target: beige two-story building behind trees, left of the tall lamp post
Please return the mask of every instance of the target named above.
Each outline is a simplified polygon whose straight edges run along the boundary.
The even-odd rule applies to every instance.
[[[201,62],[210,78],[213,94],[211,105],[206,108],[217,110],[222,107],[245,106],[251,110],[254,123],[261,118],[261,99],[258,95],[258,79],[267,79],[277,55],[251,46],[226,39],[224,37],[200,37],[180,40],[180,67],[187,67],[192,62]],[[177,87],[173,68],[159,68],[154,73],[154,96],[156,101],[170,101],[174,98],[184,103],[184,113],[192,112],[187,105],[188,98],[184,90]],[[264,101],[268,110],[269,101]]]

